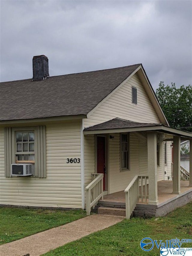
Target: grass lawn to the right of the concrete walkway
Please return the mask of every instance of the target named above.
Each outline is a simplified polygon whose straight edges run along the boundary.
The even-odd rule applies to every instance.
[[[160,249],[143,251],[140,241],[144,237],[156,240],[192,238],[192,202],[176,209],[165,217],[142,219],[132,218],[70,242],[44,256],[157,256]],[[183,243],[182,247],[192,247]]]

